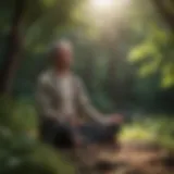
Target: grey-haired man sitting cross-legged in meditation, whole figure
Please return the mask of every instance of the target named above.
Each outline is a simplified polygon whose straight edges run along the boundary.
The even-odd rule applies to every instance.
[[[38,77],[36,92],[42,140],[57,148],[74,148],[113,139],[122,116],[102,115],[91,105],[83,82],[71,71],[72,45],[55,42],[50,59],[52,69]]]

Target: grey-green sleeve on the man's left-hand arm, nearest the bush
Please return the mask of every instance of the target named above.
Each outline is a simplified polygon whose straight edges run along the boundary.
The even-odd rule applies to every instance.
[[[44,78],[38,78],[36,90],[36,107],[40,116],[58,117],[58,112],[53,108],[49,91],[49,85]]]

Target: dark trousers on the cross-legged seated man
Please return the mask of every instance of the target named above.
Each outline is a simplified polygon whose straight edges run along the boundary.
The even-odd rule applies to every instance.
[[[119,125],[100,125],[98,123],[84,123],[72,127],[69,124],[59,124],[52,120],[45,120],[40,126],[40,136],[45,142],[57,148],[73,148],[74,136],[83,137],[84,145],[102,144],[110,141],[120,132]]]

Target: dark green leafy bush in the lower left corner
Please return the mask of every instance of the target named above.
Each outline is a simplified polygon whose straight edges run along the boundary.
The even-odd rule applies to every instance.
[[[32,105],[0,100],[0,173],[73,174],[61,153],[37,140],[35,116]]]

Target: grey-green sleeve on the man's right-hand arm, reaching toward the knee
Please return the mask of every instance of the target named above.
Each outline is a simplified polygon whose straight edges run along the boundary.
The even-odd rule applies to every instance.
[[[91,119],[95,122],[104,124],[108,122],[108,119],[101,114],[95,107],[92,107],[88,95],[87,90],[85,89],[85,86],[83,85],[83,82],[80,79],[77,79],[77,85],[78,85],[78,103],[80,111]]]

